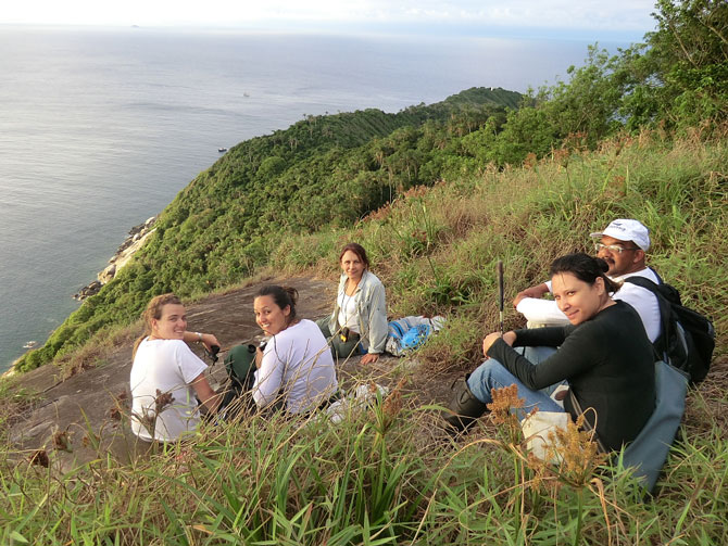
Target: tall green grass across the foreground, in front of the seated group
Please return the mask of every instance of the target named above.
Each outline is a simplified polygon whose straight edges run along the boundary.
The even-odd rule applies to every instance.
[[[396,396],[397,397],[397,396]],[[0,469],[2,544],[720,544],[726,445],[681,443],[641,500],[630,473],[587,455],[549,467],[517,431],[435,432],[406,397],[315,417],[260,416],[123,465]],[[513,432],[516,431],[514,435]],[[578,434],[578,432],[573,431]],[[719,457],[708,443],[718,442]],[[577,443],[580,442],[577,439]],[[574,453],[575,443],[566,440]],[[581,443],[580,445],[585,445]],[[10,459],[15,464],[10,464]]]

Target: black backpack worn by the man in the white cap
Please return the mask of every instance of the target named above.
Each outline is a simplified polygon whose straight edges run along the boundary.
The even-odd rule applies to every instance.
[[[685,307],[675,287],[656,284],[644,277],[629,277],[625,282],[642,287],[657,297],[661,332],[654,346],[660,357],[687,372],[693,384],[705,379],[715,348],[713,322]]]

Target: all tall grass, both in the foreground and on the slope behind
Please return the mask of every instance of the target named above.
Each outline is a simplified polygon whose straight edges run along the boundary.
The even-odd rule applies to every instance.
[[[524,168],[484,167],[475,178],[411,191],[352,229],[289,236],[276,263],[336,278],[338,250],[355,240],[385,280],[390,314],[445,314],[444,331],[418,354],[422,364],[398,371],[409,373],[416,394],[418,379],[479,359],[482,333],[498,323],[498,259],[512,296],[541,282],[553,257],[591,251],[590,231],[616,216],[637,217],[652,230],[650,263],[713,316],[725,358],[726,147],[645,132],[605,142],[598,153],[563,150]],[[507,326],[518,323],[509,314]],[[630,471],[611,461],[536,461],[507,422],[482,420],[467,440],[453,441],[439,431],[437,408],[400,385],[338,426],[259,416],[208,426],[194,442],[131,464],[100,452],[61,472],[52,450],[45,459],[7,446],[0,542],[726,544],[721,370],[690,392],[657,497],[648,501]],[[5,426],[13,395],[0,393]]]

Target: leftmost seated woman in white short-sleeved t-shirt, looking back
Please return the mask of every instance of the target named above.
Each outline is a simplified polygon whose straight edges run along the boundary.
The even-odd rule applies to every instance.
[[[198,398],[209,411],[219,402],[204,377],[208,365],[185,342],[210,346],[217,339],[186,331],[185,306],[174,294],[152,299],[142,317],[147,332],[135,344],[130,374],[131,431],[147,442],[176,441],[200,422]]]

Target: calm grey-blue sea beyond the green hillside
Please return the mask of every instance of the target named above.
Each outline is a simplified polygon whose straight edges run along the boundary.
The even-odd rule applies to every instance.
[[[304,114],[525,91],[586,53],[575,41],[0,26],[0,371],[218,147]]]

